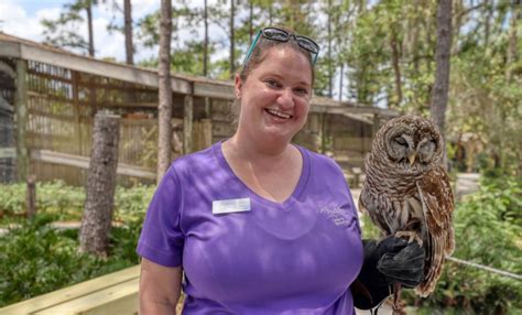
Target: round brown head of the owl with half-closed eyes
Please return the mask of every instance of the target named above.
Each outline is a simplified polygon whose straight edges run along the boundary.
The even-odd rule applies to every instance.
[[[404,169],[425,169],[439,163],[443,154],[443,138],[438,128],[418,116],[401,116],[388,121],[378,132],[377,139],[388,159]]]

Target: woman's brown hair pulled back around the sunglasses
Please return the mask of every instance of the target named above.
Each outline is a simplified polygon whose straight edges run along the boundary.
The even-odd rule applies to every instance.
[[[289,28],[278,26],[278,29],[285,30],[286,32],[291,34],[295,34],[295,32]],[[258,43],[253,47],[249,59],[247,61],[241,72],[239,73],[239,77],[241,78],[241,80],[242,82],[247,80],[250,73],[264,61],[264,58],[267,57],[267,52],[270,48],[275,47],[275,46],[291,47],[294,51],[300,52],[306,56],[306,59],[309,62],[309,67],[312,69],[312,85],[313,85],[314,78],[315,78],[315,70],[314,70],[314,63],[313,63],[314,56],[312,55],[312,53],[302,48],[297,44],[297,42],[295,42],[295,40],[293,39],[290,39],[287,42],[279,42],[279,41],[268,40],[262,34],[260,34],[258,39]]]

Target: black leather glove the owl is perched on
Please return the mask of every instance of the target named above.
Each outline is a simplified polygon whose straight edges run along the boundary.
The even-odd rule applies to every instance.
[[[390,284],[414,287],[424,274],[424,250],[403,238],[387,237],[380,242],[363,240],[365,260],[351,286],[357,308],[369,309],[390,295]]]

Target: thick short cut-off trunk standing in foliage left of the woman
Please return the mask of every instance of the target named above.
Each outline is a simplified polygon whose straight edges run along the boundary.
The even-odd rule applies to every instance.
[[[112,222],[119,133],[119,116],[96,115],[79,243],[83,252],[102,257]]]

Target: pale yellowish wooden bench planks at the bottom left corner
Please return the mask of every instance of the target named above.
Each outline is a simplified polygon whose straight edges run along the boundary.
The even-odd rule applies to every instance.
[[[0,308],[18,314],[138,314],[140,267],[131,267]]]

